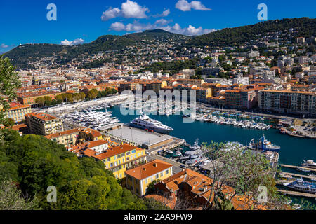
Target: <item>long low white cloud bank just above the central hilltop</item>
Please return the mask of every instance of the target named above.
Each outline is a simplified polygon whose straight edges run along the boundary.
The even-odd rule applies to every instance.
[[[169,31],[171,33],[176,34],[183,34],[187,36],[194,36],[194,35],[202,35],[202,34],[208,34],[213,31],[216,31],[216,29],[203,29],[202,27],[193,27],[192,25],[189,25],[189,27],[180,27],[178,23],[176,23],[173,26],[169,26],[171,20],[157,20],[154,22],[154,24],[143,24],[139,22],[133,22],[129,23],[127,25],[124,25],[121,22],[114,22],[110,26],[110,30],[114,31],[126,31],[126,32],[140,32],[145,31],[149,29],[164,29],[165,31]]]

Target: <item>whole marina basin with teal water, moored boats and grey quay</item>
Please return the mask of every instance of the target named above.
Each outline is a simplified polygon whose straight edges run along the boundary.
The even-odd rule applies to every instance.
[[[182,116],[172,114],[169,116],[150,115],[149,117],[145,115],[144,112],[140,113],[140,116],[137,116],[137,114],[123,116],[119,106],[111,106],[107,104],[103,108],[102,106],[94,106],[81,111],[81,113],[86,113],[86,116],[89,116],[89,114],[91,116],[91,113],[93,113],[105,120],[107,118],[112,118],[113,124],[107,124],[107,127],[109,128],[105,128],[103,130],[103,133],[107,134],[111,139],[114,141],[124,141],[134,146],[147,148],[147,153],[152,154],[153,156],[157,155],[159,157],[166,158],[166,160],[170,162],[176,162],[178,167],[190,167],[196,171],[201,170],[207,172],[209,169],[207,165],[211,161],[204,157],[202,143],[210,143],[210,141],[213,140],[217,142],[225,142],[226,147],[224,150],[227,151],[242,147],[255,151],[265,151],[267,158],[270,159],[270,162],[274,164],[273,166],[275,168],[277,167],[277,162],[280,160],[282,162],[281,167],[284,168],[294,168],[296,170],[301,169],[301,172],[303,169],[308,169],[310,172],[316,171],[316,168],[314,168],[314,162],[312,160],[303,160],[305,163],[304,166],[301,162],[303,157],[307,158],[307,156],[310,156],[310,154],[305,151],[311,150],[313,146],[313,143],[311,142],[312,139],[301,139],[303,141],[308,140],[308,142],[311,144],[311,148],[304,148],[304,151],[300,151],[302,155],[300,158],[298,158],[295,153],[295,149],[300,148],[299,146],[296,147],[298,144],[296,142],[297,139],[296,141],[291,141],[291,137],[279,134],[277,130],[271,129],[270,124],[268,124],[264,118],[258,118],[262,121],[262,123],[258,120],[248,120],[250,117],[237,121],[234,120],[236,119],[236,116],[235,118],[225,118],[223,116],[218,118],[215,115],[209,116],[200,112],[197,113],[197,116],[193,117],[192,123],[184,123]],[[74,117],[76,117],[76,119],[82,118],[82,116],[78,115],[78,112],[69,113],[68,118]],[[170,130],[168,132],[159,133],[159,131],[157,132],[157,130],[150,128],[149,126],[139,127],[136,125],[136,127],[133,127],[131,122],[133,123],[134,120],[139,118],[142,120],[143,118],[145,118],[144,120],[150,120],[150,125],[162,125],[163,123],[168,124],[168,126],[163,125],[163,127],[166,126],[167,128],[170,128]],[[207,122],[206,120],[209,118],[213,118],[214,120],[217,119],[217,121]],[[125,125],[123,125],[124,123]],[[240,124],[245,123],[249,125],[243,128],[243,125]],[[86,123],[86,125],[89,124],[94,124],[95,126],[93,127],[96,127],[96,125],[99,123],[98,120],[94,118],[92,122]],[[257,126],[254,126],[254,124]],[[100,130],[100,127],[96,128]],[[190,131],[183,132],[182,130]],[[169,135],[169,132],[171,135]],[[227,135],[227,133],[230,133],[230,135]],[[197,136],[199,139],[196,139]],[[251,139],[249,136],[252,136],[253,138]],[[281,146],[283,148],[284,144],[286,148],[282,150],[281,154],[278,154],[280,152]],[[267,153],[272,154],[270,155]],[[273,153],[277,153],[277,157],[275,157]],[[301,161],[299,162],[296,159]],[[297,165],[287,165],[285,163]],[[300,172],[300,170],[298,170],[298,172]],[[298,176],[300,178],[310,179],[311,181],[315,179],[314,176],[293,174],[290,172],[283,173],[284,175]],[[296,179],[291,177],[290,180],[294,181]],[[284,183],[289,183],[289,179],[288,181],[284,180],[278,183],[282,183],[282,185],[284,185]],[[287,190],[287,192],[289,191]],[[289,193],[289,195],[295,195],[293,192]],[[302,194],[299,192],[296,194],[296,196],[299,197],[301,197],[301,195]]]

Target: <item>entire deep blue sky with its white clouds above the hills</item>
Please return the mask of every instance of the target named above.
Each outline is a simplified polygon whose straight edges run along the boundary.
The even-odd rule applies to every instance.
[[[28,0],[1,1],[0,52],[24,43],[89,43],[105,34],[123,35],[162,28],[199,35],[225,27],[259,22],[259,3],[268,6],[268,20],[315,18],[316,1],[211,0]],[[49,3],[57,20],[48,21]]]

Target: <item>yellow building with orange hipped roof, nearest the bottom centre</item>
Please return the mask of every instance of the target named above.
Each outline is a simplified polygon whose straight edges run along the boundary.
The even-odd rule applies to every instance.
[[[153,160],[145,165],[126,170],[126,188],[132,193],[143,196],[154,180],[164,180],[172,175],[172,165],[162,160]]]

